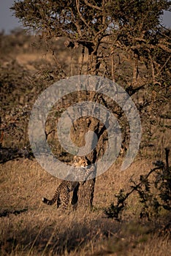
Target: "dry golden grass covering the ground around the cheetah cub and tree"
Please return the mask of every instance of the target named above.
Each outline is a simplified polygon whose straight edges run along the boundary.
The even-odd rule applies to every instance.
[[[133,174],[136,180],[150,167],[145,160],[124,172],[119,164],[111,167],[96,180],[90,212],[42,204],[42,196],[53,195],[59,181],[35,160],[1,165],[0,255],[170,255],[170,238],[160,231],[164,222],[140,221],[136,196],[129,199],[121,222],[107,219],[102,211],[119,189],[129,189]]]

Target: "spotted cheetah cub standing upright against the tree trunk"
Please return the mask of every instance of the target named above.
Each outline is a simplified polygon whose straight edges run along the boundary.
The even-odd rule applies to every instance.
[[[74,166],[80,167],[80,178],[85,180],[88,176],[93,172],[93,170],[89,170],[86,168],[88,165],[86,159],[75,157],[74,158]],[[67,178],[72,179],[72,173],[70,173]],[[81,181],[80,184],[84,184],[86,181]],[[53,195],[51,200],[48,200],[45,197],[42,197],[42,202],[46,203],[49,206],[52,206],[57,201],[57,208],[62,205],[61,207],[66,209],[69,205],[69,192],[72,192],[75,187],[79,184],[78,181],[61,181],[61,184],[58,185],[55,194]]]

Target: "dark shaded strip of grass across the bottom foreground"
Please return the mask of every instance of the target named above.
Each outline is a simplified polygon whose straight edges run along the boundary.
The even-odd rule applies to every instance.
[[[164,223],[156,226],[153,222],[135,220],[115,222],[98,217],[91,219],[91,215],[80,222],[69,220],[68,215],[62,219],[21,220],[22,225],[14,222],[15,225],[10,223],[7,227],[0,241],[0,255],[126,255],[128,251],[143,249],[152,238],[153,246],[164,241],[164,237],[169,238],[168,232],[167,236],[161,232]],[[167,246],[168,242],[164,243]]]

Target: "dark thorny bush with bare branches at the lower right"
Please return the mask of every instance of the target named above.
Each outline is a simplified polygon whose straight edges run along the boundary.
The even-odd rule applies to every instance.
[[[168,165],[170,149],[165,148],[165,150],[167,154],[166,165],[161,161],[155,162],[154,165],[157,165],[157,167],[150,170],[145,176],[141,175],[139,183],[131,180],[133,185],[129,192],[124,195],[121,189],[119,194],[115,196],[117,197],[116,205],[112,203],[104,210],[108,218],[119,219],[122,211],[126,208],[126,200],[134,192],[137,192],[140,201],[140,218],[147,217],[151,219],[157,217],[161,208],[167,211],[171,210],[171,168]],[[152,174],[154,177],[151,181]],[[156,192],[153,190],[153,184]]]

